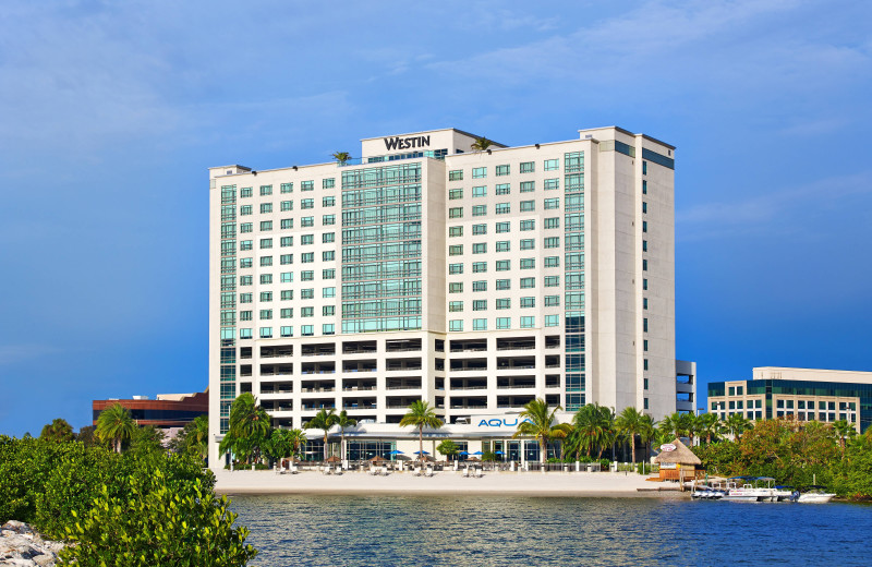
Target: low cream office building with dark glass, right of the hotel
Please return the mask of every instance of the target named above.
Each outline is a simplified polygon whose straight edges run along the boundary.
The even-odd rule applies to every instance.
[[[708,409],[722,420],[734,413],[749,420],[845,420],[864,432],[872,423],[872,372],[759,367],[753,379],[710,383]]]

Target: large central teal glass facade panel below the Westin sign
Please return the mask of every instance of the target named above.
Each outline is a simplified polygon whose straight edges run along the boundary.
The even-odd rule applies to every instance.
[[[421,328],[421,164],[342,171],[342,333]]]

